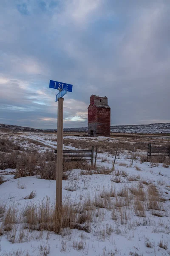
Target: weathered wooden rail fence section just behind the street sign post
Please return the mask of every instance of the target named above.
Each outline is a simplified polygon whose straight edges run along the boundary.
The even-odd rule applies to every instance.
[[[55,150],[54,153],[57,153],[57,150]],[[79,150],[63,149],[63,160],[65,162],[91,161],[91,165],[93,165],[94,146],[92,146],[91,149],[79,149]]]

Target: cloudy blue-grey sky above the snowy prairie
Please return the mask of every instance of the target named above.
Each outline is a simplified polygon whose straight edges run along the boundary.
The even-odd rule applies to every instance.
[[[1,0],[0,123],[87,126],[91,94],[111,125],[170,122],[170,0]]]

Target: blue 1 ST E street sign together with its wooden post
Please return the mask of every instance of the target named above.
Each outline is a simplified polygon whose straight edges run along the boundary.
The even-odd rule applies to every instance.
[[[62,208],[62,146],[63,146],[63,102],[67,92],[72,92],[73,85],[50,80],[50,88],[59,90],[57,115],[57,173],[56,173],[56,212]]]

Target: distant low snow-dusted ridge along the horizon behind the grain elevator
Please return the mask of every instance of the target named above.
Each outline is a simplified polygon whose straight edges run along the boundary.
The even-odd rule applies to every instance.
[[[87,132],[87,127],[64,128],[66,132]],[[0,124],[0,131],[57,131],[57,129],[35,129],[18,125]],[[149,125],[114,125],[111,126],[113,133],[133,133],[133,134],[170,134],[170,123],[159,123]]]

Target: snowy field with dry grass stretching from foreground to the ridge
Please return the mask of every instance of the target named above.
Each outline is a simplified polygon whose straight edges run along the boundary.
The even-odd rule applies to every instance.
[[[0,256],[170,255],[170,160],[146,151],[170,138],[81,136],[64,134],[64,148],[97,145],[96,167],[63,163],[56,216],[57,134],[0,132]]]

